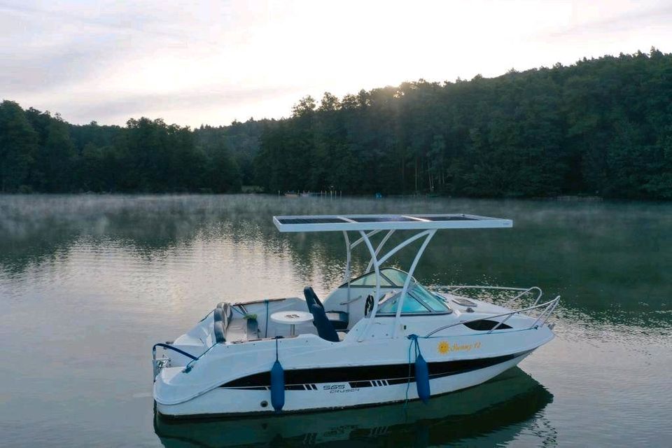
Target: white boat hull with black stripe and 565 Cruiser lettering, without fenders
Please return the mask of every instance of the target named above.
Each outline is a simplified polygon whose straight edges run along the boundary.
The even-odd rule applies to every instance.
[[[311,323],[297,325],[300,334],[292,335],[289,325],[269,321],[276,311],[304,309],[297,298],[232,311],[226,342],[211,339],[214,324],[205,318],[172,345],[197,360],[169,352],[170,364],[155,377],[156,409],[173,417],[271,414],[270,370],[276,359],[284,372],[283,413],[416,400],[416,342],[435,396],[488,381],[554,337],[549,325],[515,312],[505,328],[472,329],[461,322],[507,309],[478,300],[472,306],[479,311],[451,305],[449,314],[405,316],[398,326],[393,316],[364,318],[351,308],[357,321],[339,333],[339,342],[316,335]],[[244,330],[246,320],[239,317],[244,312],[256,316],[258,329]]]

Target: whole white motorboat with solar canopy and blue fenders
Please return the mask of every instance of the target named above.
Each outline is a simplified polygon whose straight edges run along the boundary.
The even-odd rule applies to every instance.
[[[343,281],[322,301],[220,302],[173,342],[155,344],[153,397],[167,417],[287,414],[422,400],[477,386],[554,337],[560,297],[542,290],[456,285],[433,290],[413,274],[439,230],[512,228],[470,214],[274,216],[280,232],[342,232]],[[386,244],[395,233],[402,239]],[[388,265],[418,246],[404,271]],[[353,276],[352,251],[370,261]],[[483,290],[510,293],[505,303]],[[527,305],[510,307],[511,303]],[[158,350],[162,355],[158,356]]]

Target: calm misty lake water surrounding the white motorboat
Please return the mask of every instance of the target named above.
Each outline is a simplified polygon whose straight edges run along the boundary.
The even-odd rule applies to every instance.
[[[416,278],[540,286],[562,296],[558,337],[520,368],[429,405],[155,418],[155,342],[222,300],[306,285],[323,296],[339,284],[342,236],[281,235],[274,214],[400,211],[512,218],[513,229],[438,233]],[[367,257],[354,255],[358,272]],[[0,196],[0,445],[668,447],[671,267],[672,204]]]

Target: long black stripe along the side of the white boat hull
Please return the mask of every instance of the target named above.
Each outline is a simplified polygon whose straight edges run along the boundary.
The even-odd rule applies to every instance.
[[[429,363],[430,379],[447,377],[473,370],[491,367],[519,356],[530,353],[521,351],[505,356],[493,358],[451,360],[440,363]],[[409,377],[410,373],[410,377]],[[415,381],[415,365],[386,364],[386,365],[359,365],[354,367],[331,367],[321,369],[285,370],[285,388],[289,391],[317,390],[314,385],[320,383],[349,383],[350,387],[374,387]],[[224,388],[265,389],[271,384],[270,372],[260,372],[241,377],[222,384]]]

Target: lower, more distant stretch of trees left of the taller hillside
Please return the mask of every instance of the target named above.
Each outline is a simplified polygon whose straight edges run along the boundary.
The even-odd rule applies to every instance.
[[[253,181],[266,121],[197,130],[149,118],[131,118],[125,127],[70,125],[58,114],[6,100],[0,104],[0,191],[236,192]]]

